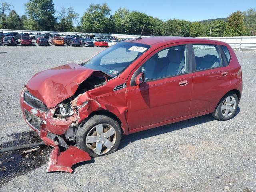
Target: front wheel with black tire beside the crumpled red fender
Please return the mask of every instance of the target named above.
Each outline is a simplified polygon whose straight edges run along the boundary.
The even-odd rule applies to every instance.
[[[120,144],[122,132],[116,120],[105,115],[94,115],[76,133],[78,148],[92,157],[115,152]]]

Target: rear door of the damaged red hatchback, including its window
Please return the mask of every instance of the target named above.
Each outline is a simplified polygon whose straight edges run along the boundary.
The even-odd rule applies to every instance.
[[[230,68],[216,45],[194,44],[195,69],[189,114],[214,110],[230,85]]]

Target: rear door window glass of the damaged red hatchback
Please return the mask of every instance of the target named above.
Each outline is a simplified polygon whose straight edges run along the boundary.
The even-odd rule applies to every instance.
[[[215,45],[193,45],[196,70],[204,70],[221,66],[220,52]]]

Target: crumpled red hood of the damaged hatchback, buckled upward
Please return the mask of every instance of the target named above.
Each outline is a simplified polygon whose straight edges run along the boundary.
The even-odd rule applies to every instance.
[[[101,71],[69,63],[35,74],[26,84],[26,88],[48,108],[53,108],[74,95],[78,85],[93,73],[95,76],[108,76]]]

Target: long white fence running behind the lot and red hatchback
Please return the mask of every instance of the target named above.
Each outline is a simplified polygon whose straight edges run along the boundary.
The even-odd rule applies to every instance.
[[[104,33],[82,33],[82,32],[60,32],[60,31],[29,31],[29,30],[10,30],[10,29],[0,29],[3,33],[8,32],[18,32],[18,33],[58,33],[58,34],[91,34],[95,36],[114,36],[117,38],[137,38],[139,35],[127,35],[127,34],[104,34]],[[147,36],[142,36],[147,37]],[[223,41],[235,49],[235,50],[256,50],[256,36],[239,36],[239,37],[200,37],[205,39],[212,39]]]

